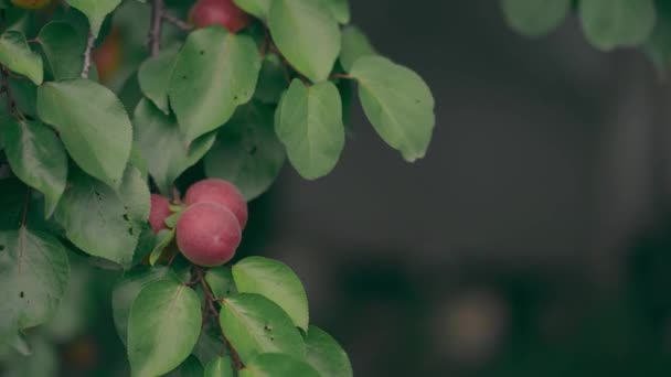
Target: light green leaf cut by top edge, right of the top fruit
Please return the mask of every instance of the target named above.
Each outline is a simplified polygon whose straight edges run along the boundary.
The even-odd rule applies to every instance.
[[[313,83],[329,77],[340,53],[340,29],[326,2],[275,0],[268,28],[296,69]]]

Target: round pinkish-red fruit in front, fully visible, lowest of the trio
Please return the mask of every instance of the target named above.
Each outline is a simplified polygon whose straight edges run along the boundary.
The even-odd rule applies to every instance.
[[[221,266],[235,256],[242,230],[231,211],[216,203],[198,203],[177,222],[177,245],[192,263]]]

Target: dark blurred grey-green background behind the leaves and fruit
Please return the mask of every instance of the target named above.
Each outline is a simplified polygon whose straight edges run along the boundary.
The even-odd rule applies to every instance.
[[[406,164],[356,106],[331,175],[287,166],[252,204],[244,254],[298,272],[356,376],[671,375],[668,82],[638,50],[593,50],[575,18],[528,40],[492,0],[351,3],[433,88],[429,153]],[[42,369],[15,375],[127,374],[118,274],[74,265],[45,331],[58,348],[35,335],[23,367]],[[92,273],[109,281],[84,289]]]

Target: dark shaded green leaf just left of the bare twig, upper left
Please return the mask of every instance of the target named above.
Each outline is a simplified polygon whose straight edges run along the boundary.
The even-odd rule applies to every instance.
[[[77,78],[84,66],[86,35],[65,22],[50,22],[36,39],[55,79]]]

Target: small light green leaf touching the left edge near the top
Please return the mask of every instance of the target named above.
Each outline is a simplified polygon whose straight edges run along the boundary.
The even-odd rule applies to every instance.
[[[20,31],[9,30],[0,35],[0,64],[24,75],[35,85],[42,84],[44,78],[42,57],[30,49]]]

